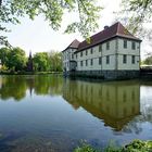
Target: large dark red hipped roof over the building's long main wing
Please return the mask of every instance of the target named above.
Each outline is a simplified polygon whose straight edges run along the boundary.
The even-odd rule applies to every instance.
[[[116,36],[141,41],[139,38],[131,35],[119,22],[117,22],[110,27],[106,26],[104,30],[91,36],[90,43],[88,43],[86,40],[80,42],[78,46],[78,51],[96,46]]]

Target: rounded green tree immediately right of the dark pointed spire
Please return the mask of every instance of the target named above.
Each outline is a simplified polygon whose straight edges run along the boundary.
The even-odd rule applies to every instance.
[[[50,69],[49,55],[47,52],[36,53],[33,61],[35,71],[48,72]]]

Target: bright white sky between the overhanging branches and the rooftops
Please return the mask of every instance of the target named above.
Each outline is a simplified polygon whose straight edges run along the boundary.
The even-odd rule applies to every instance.
[[[121,0],[99,0],[101,7],[104,10],[101,11],[101,18],[98,21],[99,29],[96,33],[103,30],[105,25],[111,26],[115,22],[114,12],[119,10]],[[65,27],[77,18],[76,15],[65,13],[62,21],[60,30],[54,31],[49,23],[45,21],[42,16],[36,17],[34,21],[27,16],[21,18],[21,24],[7,25],[11,33],[8,33],[9,42],[14,47],[20,47],[26,51],[26,55],[42,51],[62,51],[64,50],[74,39],[79,41],[84,40],[80,34],[64,34]],[[93,33],[93,34],[96,34]],[[145,52],[152,50],[150,46],[143,40],[141,43],[141,59],[145,58]]]

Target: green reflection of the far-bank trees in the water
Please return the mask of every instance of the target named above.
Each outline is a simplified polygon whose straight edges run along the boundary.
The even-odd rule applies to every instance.
[[[62,77],[51,75],[40,76],[1,76],[0,77],[0,98],[8,100],[13,98],[20,101],[26,96],[26,91],[30,94],[49,94],[59,96],[62,93]]]

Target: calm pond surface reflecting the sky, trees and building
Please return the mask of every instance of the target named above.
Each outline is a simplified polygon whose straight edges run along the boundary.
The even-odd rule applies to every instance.
[[[0,76],[0,152],[68,152],[152,139],[152,81]]]

